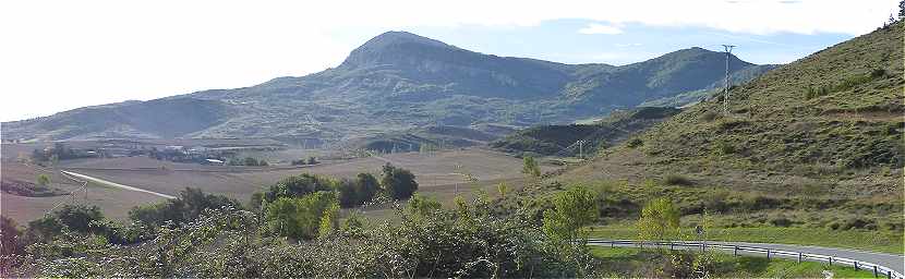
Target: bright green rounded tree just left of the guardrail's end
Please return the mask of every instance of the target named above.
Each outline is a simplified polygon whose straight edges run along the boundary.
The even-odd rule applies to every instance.
[[[581,228],[600,216],[598,195],[584,186],[575,186],[553,197],[553,209],[544,211],[544,233],[553,239],[575,240]]]

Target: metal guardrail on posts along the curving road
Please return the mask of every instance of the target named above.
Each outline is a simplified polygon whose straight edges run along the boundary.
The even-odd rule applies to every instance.
[[[676,247],[683,248],[700,248],[701,252],[705,250],[722,250],[722,251],[732,251],[733,255],[738,255],[739,252],[747,252],[747,253],[761,253],[765,254],[767,258],[771,258],[771,256],[775,257],[786,257],[786,258],[795,258],[798,263],[801,260],[809,260],[809,262],[822,262],[829,263],[830,265],[840,264],[840,265],[847,265],[855,268],[855,270],[872,270],[873,277],[884,276],[888,279],[905,279],[905,275],[900,274],[898,271],[893,270],[892,268],[864,262],[857,260],[846,257],[836,257],[830,255],[821,255],[821,254],[811,254],[811,253],[801,253],[801,252],[794,252],[794,251],[784,251],[784,250],[774,250],[774,248],[763,248],[763,247],[755,247],[755,246],[745,246],[745,245],[733,245],[733,244],[720,244],[720,243],[707,243],[707,242],[686,242],[686,241],[638,241],[638,240],[602,240],[602,239],[589,239],[588,244],[592,245],[610,245],[611,247],[625,246],[659,246],[659,247],[669,247],[669,250],[675,250]]]

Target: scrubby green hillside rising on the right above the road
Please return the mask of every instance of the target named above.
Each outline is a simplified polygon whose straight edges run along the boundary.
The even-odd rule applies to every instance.
[[[900,22],[780,66],[734,88],[728,114],[722,97],[691,106],[516,199],[584,184],[615,223],[668,197],[690,223],[708,213],[717,228],[844,230],[900,243],[862,248],[901,251],[903,29]]]

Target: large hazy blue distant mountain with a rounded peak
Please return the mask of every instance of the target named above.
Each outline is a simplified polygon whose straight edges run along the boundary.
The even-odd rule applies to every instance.
[[[4,122],[2,136],[341,141],[425,126],[568,123],[719,86],[724,59],[722,52],[690,48],[623,66],[563,64],[387,32],[323,72]],[[731,60],[731,72],[743,80],[770,68]]]

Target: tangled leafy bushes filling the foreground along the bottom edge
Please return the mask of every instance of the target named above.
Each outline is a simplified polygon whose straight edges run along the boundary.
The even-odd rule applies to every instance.
[[[319,199],[329,193],[309,196]],[[318,197],[319,196],[319,197]],[[281,197],[282,201],[304,199]],[[329,199],[329,198],[327,198]],[[291,204],[291,203],[290,203]],[[288,207],[294,205],[287,204]],[[274,204],[268,205],[273,206]],[[333,208],[336,209],[334,198]],[[580,277],[591,275],[586,254],[565,252],[520,218],[490,215],[487,203],[464,211],[434,210],[413,218],[397,207],[399,222],[367,230],[333,231],[287,243],[260,231],[260,216],[225,207],[195,221],[161,228],[140,245],[64,234],[36,244],[31,262],[12,276],[37,277]],[[329,207],[329,206],[328,206]],[[274,207],[276,208],[276,207]],[[295,207],[298,208],[298,207]],[[267,219],[266,215],[264,217]],[[312,222],[323,223],[321,220]],[[269,225],[269,221],[265,221]],[[333,225],[330,225],[333,226]],[[325,226],[321,226],[324,228]]]

